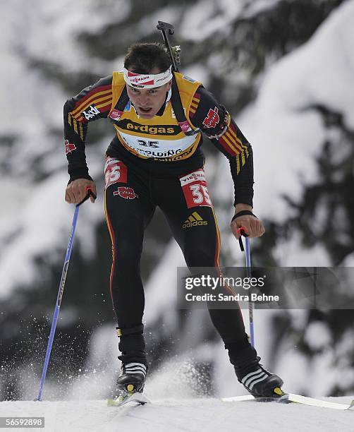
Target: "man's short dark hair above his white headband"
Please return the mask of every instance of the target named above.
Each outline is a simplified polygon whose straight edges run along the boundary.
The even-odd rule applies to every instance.
[[[130,45],[124,59],[124,67],[135,73],[151,73],[154,68],[164,72],[171,64],[167,48],[159,42]]]

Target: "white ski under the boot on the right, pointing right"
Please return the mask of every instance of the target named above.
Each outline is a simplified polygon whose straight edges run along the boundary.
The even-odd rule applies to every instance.
[[[279,404],[298,403],[298,404],[309,405],[311,407],[322,407],[322,408],[342,409],[342,410],[348,410],[354,407],[354,400],[352,400],[350,404],[341,404],[338,402],[329,402],[327,400],[315,399],[314,397],[295,395],[294,393],[285,393],[281,397],[253,397],[252,395],[222,397],[221,400],[223,400],[224,402],[253,401],[253,402],[277,402]]]

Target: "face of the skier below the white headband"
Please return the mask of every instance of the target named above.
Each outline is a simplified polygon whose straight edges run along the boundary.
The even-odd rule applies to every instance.
[[[161,71],[154,68],[151,73],[161,73]],[[127,92],[139,116],[143,119],[152,119],[164,104],[166,92],[170,90],[171,85],[172,80],[155,88],[133,88],[127,85]]]

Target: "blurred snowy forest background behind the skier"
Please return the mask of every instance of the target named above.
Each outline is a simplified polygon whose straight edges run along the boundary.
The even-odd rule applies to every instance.
[[[13,0],[0,11],[1,400],[32,399],[42,373],[73,217],[63,104],[121,70],[133,42],[161,42],[157,20],[175,25],[183,73],[214,92],[252,143],[254,211],[267,230],[252,241],[252,263],[354,265],[353,0]],[[90,124],[98,199],[80,208],[44,399],[107,397],[119,371],[103,206],[112,136],[108,121]],[[228,227],[228,161],[207,139],[203,149],[221,265],[243,265]],[[183,265],[157,212],[142,258],[147,394],[243,394],[207,311],[176,308]],[[353,395],[353,323],[350,310],[255,311],[255,344],[286,390]]]

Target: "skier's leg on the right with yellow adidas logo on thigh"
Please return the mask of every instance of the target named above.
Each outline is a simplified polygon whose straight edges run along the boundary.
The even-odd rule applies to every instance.
[[[181,246],[188,267],[210,268],[210,272],[218,276],[220,236],[203,170],[180,179],[164,179],[161,187],[154,188],[154,196]],[[215,308],[212,302],[207,306],[231,363],[237,367],[252,366],[250,361],[257,361],[257,354],[248,341],[238,304],[222,309]]]

